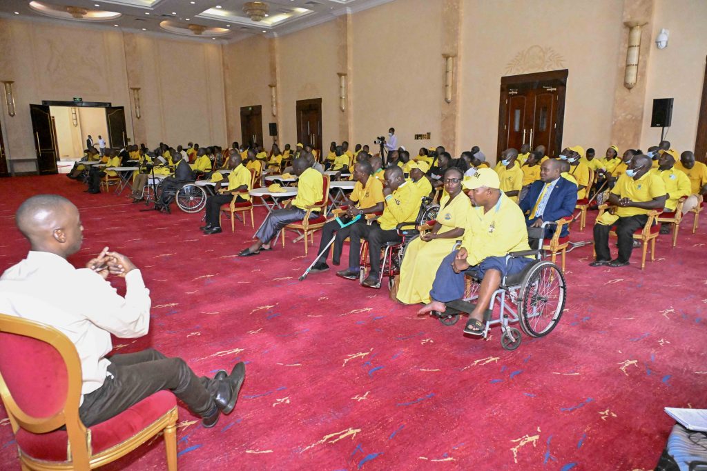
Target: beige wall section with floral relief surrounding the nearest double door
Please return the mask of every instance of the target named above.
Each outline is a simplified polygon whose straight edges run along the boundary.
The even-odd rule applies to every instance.
[[[617,54],[626,55],[618,49],[624,34],[621,1],[465,1],[462,148],[479,145],[496,160],[502,76],[568,68],[563,145],[605,149]]]

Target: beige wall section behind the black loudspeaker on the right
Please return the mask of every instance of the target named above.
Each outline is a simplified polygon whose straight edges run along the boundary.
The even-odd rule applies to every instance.
[[[699,119],[700,97],[707,56],[707,2],[694,0],[655,0],[653,31],[644,34],[650,52],[641,149],[658,145],[660,128],[650,127],[650,114],[654,98],[674,98],[672,127],[667,140],[678,152],[694,150]],[[697,20],[701,18],[701,20]],[[650,25],[649,25],[650,26]],[[647,27],[648,28],[648,27]],[[670,30],[668,47],[655,47],[655,37],[660,28]],[[650,32],[648,29],[646,32]]]

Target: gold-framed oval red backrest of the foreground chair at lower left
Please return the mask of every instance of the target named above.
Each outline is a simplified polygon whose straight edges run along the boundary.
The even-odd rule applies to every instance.
[[[78,418],[81,362],[59,330],[0,314],[0,397],[13,424],[42,434],[66,424],[69,436],[86,428]]]

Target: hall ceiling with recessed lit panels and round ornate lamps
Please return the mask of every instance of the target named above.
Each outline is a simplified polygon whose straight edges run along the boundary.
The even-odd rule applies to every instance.
[[[0,16],[233,42],[286,35],[388,1],[265,0],[267,17],[254,21],[243,11],[247,0],[0,0]]]

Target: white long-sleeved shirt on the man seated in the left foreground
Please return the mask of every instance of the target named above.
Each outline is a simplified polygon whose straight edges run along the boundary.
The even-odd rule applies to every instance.
[[[0,313],[49,324],[76,345],[81,359],[81,402],[103,386],[110,374],[105,358],[110,334],[122,338],[145,335],[150,326],[150,291],[140,270],[125,276],[123,298],[98,273],[74,268],[49,252],[30,251],[0,277]]]

